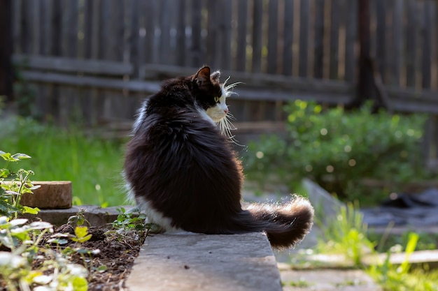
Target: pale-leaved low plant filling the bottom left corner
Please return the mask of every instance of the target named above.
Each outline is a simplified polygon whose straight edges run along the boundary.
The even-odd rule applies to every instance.
[[[27,224],[27,219],[8,221],[0,217],[0,246],[10,252],[0,251],[0,278],[11,291],[61,291],[87,290],[87,270],[69,263],[62,254],[39,246],[46,233],[53,232],[52,225],[37,221]],[[32,269],[31,262],[39,258],[43,263]]]

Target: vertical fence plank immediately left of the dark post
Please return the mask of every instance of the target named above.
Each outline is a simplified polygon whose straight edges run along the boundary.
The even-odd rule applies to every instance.
[[[346,1],[345,77],[346,82],[356,80],[355,44],[358,40],[358,0]]]

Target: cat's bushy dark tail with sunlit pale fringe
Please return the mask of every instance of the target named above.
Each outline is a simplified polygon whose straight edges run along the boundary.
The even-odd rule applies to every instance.
[[[239,223],[246,224],[241,226],[264,230],[272,248],[276,249],[295,246],[313,225],[313,207],[304,197],[294,196],[284,204],[248,204],[246,210],[238,219]]]

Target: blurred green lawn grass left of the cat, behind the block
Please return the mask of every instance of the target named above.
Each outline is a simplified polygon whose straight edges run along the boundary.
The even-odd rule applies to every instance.
[[[77,129],[67,131],[21,118],[0,120],[0,140],[0,150],[32,157],[12,168],[33,170],[33,181],[71,181],[73,204],[126,204],[120,176],[123,142],[86,137]]]

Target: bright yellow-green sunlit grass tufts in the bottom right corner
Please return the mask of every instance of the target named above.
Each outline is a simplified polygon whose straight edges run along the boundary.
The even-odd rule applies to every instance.
[[[414,232],[404,235],[400,242],[407,254],[406,260],[395,266],[390,263],[389,255],[384,262],[377,262],[366,266],[363,260],[366,255],[376,255],[374,246],[379,245],[376,241],[369,239],[367,225],[362,222],[362,215],[355,211],[353,204],[343,207],[337,215],[336,220],[328,226],[320,225],[323,228],[323,237],[317,247],[317,252],[326,254],[344,254],[351,260],[354,267],[367,271],[367,274],[374,278],[385,291],[432,291],[438,290],[438,271],[427,269],[411,269],[409,256],[418,250],[421,244],[421,236]],[[430,243],[423,244],[430,248]]]

